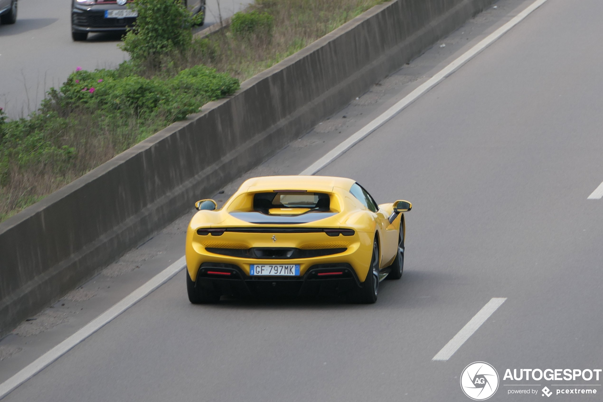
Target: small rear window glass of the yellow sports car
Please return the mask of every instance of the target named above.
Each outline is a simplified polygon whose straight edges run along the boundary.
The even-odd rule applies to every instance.
[[[256,211],[271,208],[310,208],[327,211],[329,207],[329,195],[325,193],[282,191],[253,195],[253,209]]]

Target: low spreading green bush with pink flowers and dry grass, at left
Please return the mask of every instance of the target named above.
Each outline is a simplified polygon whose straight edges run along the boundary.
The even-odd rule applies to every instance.
[[[202,65],[166,78],[130,71],[75,71],[28,119],[0,110],[0,221],[239,88]]]

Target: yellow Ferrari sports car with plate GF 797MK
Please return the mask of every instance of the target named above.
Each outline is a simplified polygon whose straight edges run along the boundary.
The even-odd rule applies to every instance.
[[[380,204],[349,178],[251,178],[221,209],[212,199],[186,232],[191,303],[221,295],[347,294],[377,301],[379,282],[404,268],[404,212]]]

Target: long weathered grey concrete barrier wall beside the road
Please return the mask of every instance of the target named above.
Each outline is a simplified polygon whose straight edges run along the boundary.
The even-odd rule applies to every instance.
[[[378,5],[0,224],[0,333],[455,30],[491,0]],[[183,288],[184,289],[184,288]]]

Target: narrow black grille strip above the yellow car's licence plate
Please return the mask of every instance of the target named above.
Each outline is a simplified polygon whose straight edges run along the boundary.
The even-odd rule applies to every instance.
[[[330,256],[332,254],[343,253],[347,248],[320,248],[315,250],[300,250],[299,248],[287,248],[287,247],[253,247],[247,250],[240,250],[235,248],[215,248],[207,247],[205,250],[214,254],[221,254],[223,256],[239,257],[239,258],[251,258],[251,259],[304,259],[312,257],[323,257]]]

